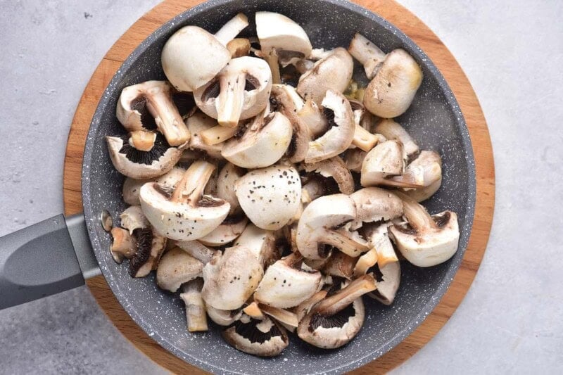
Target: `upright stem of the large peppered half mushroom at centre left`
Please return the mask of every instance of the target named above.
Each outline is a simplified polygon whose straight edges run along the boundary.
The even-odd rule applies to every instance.
[[[213,174],[215,165],[203,160],[192,163],[184,173],[184,177],[178,182],[172,198],[172,202],[186,201],[192,205],[201,198],[205,185]]]

